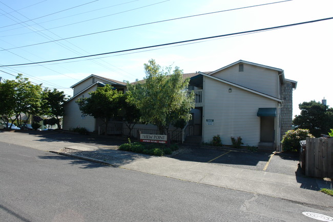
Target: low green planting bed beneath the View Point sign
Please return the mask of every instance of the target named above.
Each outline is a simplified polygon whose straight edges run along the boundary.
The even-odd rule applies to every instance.
[[[129,139],[129,143],[120,145],[119,150],[143,153],[153,156],[163,156],[172,154],[173,151],[178,150],[178,145],[172,144],[170,147],[166,147],[164,144],[147,144],[140,142],[132,143]]]

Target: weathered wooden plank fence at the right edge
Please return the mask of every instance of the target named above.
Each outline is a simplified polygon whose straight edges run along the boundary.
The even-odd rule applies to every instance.
[[[333,177],[333,138],[306,138],[305,175]]]

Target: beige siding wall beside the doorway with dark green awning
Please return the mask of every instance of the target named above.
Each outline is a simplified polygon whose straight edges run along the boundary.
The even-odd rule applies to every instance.
[[[222,144],[231,145],[231,136],[241,136],[243,146],[258,146],[258,108],[277,108],[278,103],[209,77],[204,76],[203,80],[203,141],[210,142],[213,136],[220,135]],[[228,92],[229,89],[232,92]],[[206,119],[214,119],[214,125],[207,125]]]

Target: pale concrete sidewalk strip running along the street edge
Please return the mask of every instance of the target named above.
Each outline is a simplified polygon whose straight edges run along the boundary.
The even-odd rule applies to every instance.
[[[21,134],[21,135],[18,135]],[[6,137],[6,140],[4,138]],[[18,139],[19,137],[19,139]],[[195,183],[213,185],[239,191],[264,194],[309,205],[333,207],[333,197],[319,191],[307,190],[307,184],[316,183],[316,178],[284,175],[216,165],[178,160],[170,157],[156,157],[116,150],[115,147],[89,146],[77,143],[46,141],[38,135],[2,132],[0,139],[6,143],[28,146],[44,151],[54,151],[67,155],[61,149],[76,150],[75,157],[97,159],[114,167],[151,173]],[[46,143],[47,142],[47,143]],[[86,153],[86,154],[85,154]],[[72,154],[73,155],[73,154]]]

